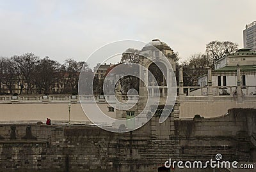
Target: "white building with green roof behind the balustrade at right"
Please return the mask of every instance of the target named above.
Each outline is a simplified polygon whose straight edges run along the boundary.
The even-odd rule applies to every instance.
[[[220,87],[219,90],[215,89],[215,94],[232,94],[236,91],[238,68],[241,70],[243,94],[256,94],[256,52],[248,49],[241,49],[232,54],[225,54],[224,57],[214,62],[212,86]],[[207,75],[198,78],[198,85],[200,87],[207,85]],[[227,92],[223,89],[227,90]]]

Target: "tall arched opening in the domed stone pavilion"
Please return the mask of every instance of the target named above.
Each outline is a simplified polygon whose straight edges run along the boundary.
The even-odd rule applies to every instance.
[[[150,75],[152,73],[152,75]],[[165,76],[165,77],[164,77]],[[148,67],[148,95],[166,96],[167,95],[167,69],[162,62],[153,62]],[[156,80],[154,80],[156,78]]]

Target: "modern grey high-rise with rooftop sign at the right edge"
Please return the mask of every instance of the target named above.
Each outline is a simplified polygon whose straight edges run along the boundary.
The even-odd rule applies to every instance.
[[[256,51],[256,21],[245,25],[243,37],[244,48]]]

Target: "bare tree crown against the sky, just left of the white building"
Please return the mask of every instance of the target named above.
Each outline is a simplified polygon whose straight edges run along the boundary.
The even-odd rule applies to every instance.
[[[225,55],[225,52],[232,53],[237,50],[238,44],[231,41],[211,41],[206,44],[205,52],[212,60],[220,59]]]

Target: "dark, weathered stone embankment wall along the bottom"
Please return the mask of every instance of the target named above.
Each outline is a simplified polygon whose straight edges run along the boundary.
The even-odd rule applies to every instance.
[[[255,162],[256,110],[174,122],[170,117],[163,124],[157,120],[131,133],[2,124],[0,171],[157,171],[169,158],[208,161],[216,154],[225,161]]]

